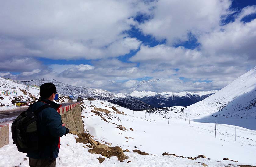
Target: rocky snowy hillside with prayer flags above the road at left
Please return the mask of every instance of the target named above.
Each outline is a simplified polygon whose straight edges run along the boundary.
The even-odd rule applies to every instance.
[[[39,88],[28,87],[27,85],[20,84],[14,80],[7,80],[0,77],[0,92],[17,92],[12,94],[0,94],[0,110],[7,110],[15,108],[15,101],[29,101],[30,104],[37,101],[39,96]],[[58,94],[59,100],[55,101],[58,103],[67,102],[67,97],[62,94]]]

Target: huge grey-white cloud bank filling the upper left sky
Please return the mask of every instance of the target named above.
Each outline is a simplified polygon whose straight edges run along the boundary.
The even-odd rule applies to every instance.
[[[0,55],[100,59],[127,54],[141,42],[123,32],[130,29],[137,12],[148,12],[147,4],[139,0],[3,2]]]

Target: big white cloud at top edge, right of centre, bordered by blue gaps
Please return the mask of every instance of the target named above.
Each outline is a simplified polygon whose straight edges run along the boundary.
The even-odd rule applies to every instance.
[[[227,15],[229,0],[159,0],[152,10],[152,19],[138,27],[156,39],[167,39],[168,44],[188,40],[188,32],[201,34],[219,26],[221,16]]]

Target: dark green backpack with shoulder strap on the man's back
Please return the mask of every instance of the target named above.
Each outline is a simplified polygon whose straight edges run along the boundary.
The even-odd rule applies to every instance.
[[[12,123],[13,144],[16,144],[19,152],[28,153],[39,150],[37,114],[43,109],[52,106],[45,104],[36,111],[32,111],[34,104],[29,106],[26,111],[23,111]]]

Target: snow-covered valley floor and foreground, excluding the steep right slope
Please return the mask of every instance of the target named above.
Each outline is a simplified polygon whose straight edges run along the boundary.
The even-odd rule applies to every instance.
[[[82,105],[84,129],[87,129],[94,140],[111,146],[120,146],[129,149],[124,152],[129,156],[124,162],[117,161],[116,157],[106,158],[99,164],[98,154],[88,152],[88,147],[76,143],[76,135],[68,134],[61,138],[61,150],[57,159],[57,166],[229,166],[228,164],[256,165],[256,132],[239,131],[239,137],[234,138],[229,128],[219,129],[215,138],[215,124],[198,123],[177,118],[163,119],[163,115],[133,111],[118,105],[101,101],[84,100]],[[91,110],[106,109],[110,113],[98,111],[106,121]],[[116,109],[125,114],[118,114]],[[146,118],[145,118],[146,117]],[[114,123],[114,124],[113,124]],[[10,123],[11,124],[11,123]],[[127,130],[116,128],[122,125]],[[129,130],[133,128],[134,131]],[[243,128],[240,128],[243,129]],[[244,137],[243,137],[244,136]],[[246,136],[246,137],[245,137]],[[127,139],[127,138],[128,139]],[[26,154],[17,151],[12,144],[11,134],[8,145],[0,148],[0,166],[27,167]],[[138,147],[135,148],[134,146]],[[138,155],[132,152],[139,149],[153,155]],[[197,157],[202,154],[210,159],[198,158],[189,160],[174,156],[162,156],[164,152],[175,153],[185,157]],[[229,158],[233,161],[223,161]],[[130,163],[126,163],[131,161]],[[19,165],[21,163],[21,165]]]

